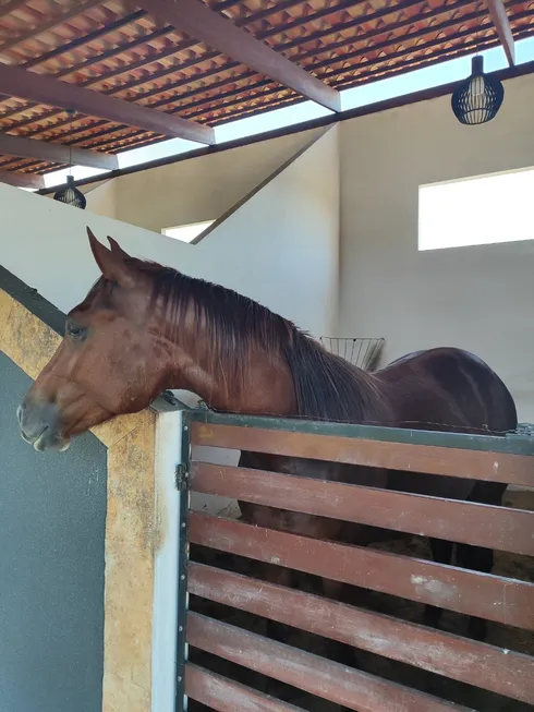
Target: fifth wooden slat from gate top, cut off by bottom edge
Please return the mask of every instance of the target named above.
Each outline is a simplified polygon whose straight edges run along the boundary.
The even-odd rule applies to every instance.
[[[445,712],[465,708],[345,667],[213,618],[189,613],[187,642],[312,695],[365,712]]]

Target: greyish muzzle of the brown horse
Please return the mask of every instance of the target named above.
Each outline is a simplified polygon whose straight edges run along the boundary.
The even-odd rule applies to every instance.
[[[70,442],[61,435],[61,419],[56,403],[25,399],[16,409],[23,441],[39,452],[66,450]]]

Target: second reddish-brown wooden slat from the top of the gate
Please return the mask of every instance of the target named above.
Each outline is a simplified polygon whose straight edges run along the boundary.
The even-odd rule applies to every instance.
[[[193,492],[534,556],[534,511],[193,462]]]

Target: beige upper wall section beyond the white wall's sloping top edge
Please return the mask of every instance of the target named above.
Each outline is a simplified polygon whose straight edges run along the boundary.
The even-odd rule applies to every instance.
[[[98,189],[87,195],[87,209],[155,232],[215,220],[314,135],[318,132],[292,134],[122,176],[112,181],[114,206],[102,202]]]

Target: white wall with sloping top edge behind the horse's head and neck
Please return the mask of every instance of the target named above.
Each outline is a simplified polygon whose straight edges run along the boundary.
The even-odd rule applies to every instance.
[[[337,129],[197,245],[8,185],[0,185],[0,264],[63,311],[81,301],[98,276],[85,231],[89,225],[102,241],[110,234],[134,255],[235,289],[316,335],[335,326]]]

